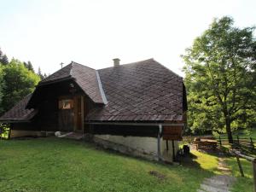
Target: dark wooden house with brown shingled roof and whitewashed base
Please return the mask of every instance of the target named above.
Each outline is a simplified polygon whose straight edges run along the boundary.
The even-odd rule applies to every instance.
[[[3,114],[11,136],[75,131],[123,153],[172,161],[186,124],[183,79],[154,59],[96,70],[76,62]]]

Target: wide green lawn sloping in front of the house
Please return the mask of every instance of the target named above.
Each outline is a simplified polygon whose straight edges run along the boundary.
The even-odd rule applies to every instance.
[[[193,156],[189,164],[170,166],[65,139],[0,140],[0,191],[192,192],[217,167],[212,155]]]

